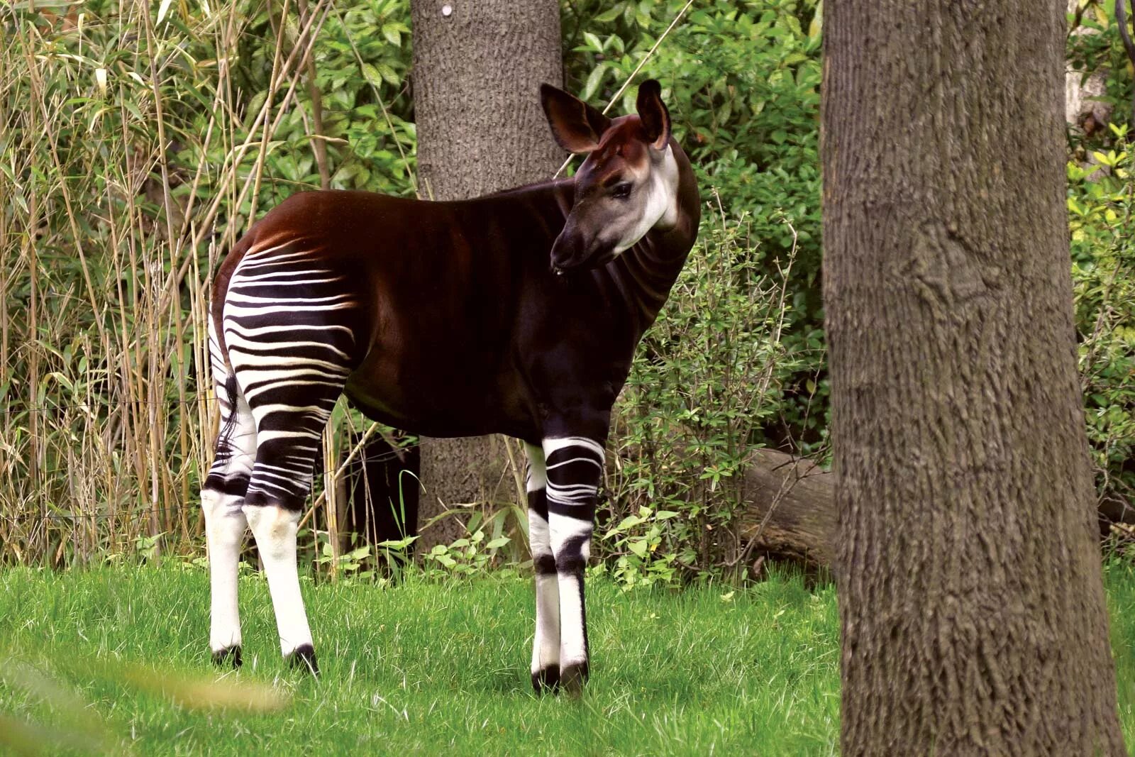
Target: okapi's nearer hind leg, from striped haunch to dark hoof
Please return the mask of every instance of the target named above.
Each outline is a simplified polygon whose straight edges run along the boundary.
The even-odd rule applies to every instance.
[[[244,514],[276,611],[280,649],[317,672],[300,592],[296,531],[319,436],[355,364],[355,305],[343,277],[302,250],[250,252],[228,284],[228,356],[257,426]]]

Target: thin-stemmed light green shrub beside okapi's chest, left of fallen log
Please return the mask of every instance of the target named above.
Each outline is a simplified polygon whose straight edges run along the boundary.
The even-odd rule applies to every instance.
[[[617,464],[607,466],[608,519],[596,552],[627,586],[738,562],[740,473],[763,446],[785,385],[814,358],[783,338],[802,317],[790,295],[793,250],[773,255],[751,234],[747,216],[703,220],[616,406]]]

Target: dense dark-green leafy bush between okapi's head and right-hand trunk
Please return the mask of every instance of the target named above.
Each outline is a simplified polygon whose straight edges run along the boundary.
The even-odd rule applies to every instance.
[[[571,3],[564,15],[569,89],[592,102],[608,101],[684,5]],[[813,0],[696,3],[640,74],[663,84],[703,194],[715,191],[723,212],[746,218],[746,234],[760,247],[753,276],[775,276],[768,261],[794,249],[793,318],[782,339],[800,360],[796,373],[784,377],[785,393],[777,412],[765,415],[762,432],[771,445],[806,454],[824,454],[827,418],[816,11]],[[615,109],[633,111],[633,86]]]

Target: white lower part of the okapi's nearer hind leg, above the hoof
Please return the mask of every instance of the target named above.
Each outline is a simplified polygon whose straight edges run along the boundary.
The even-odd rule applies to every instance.
[[[280,650],[289,655],[300,647],[310,647],[311,629],[303,608],[295,562],[295,535],[300,513],[275,505],[246,505],[244,513],[257,538],[257,548],[268,575],[268,590],[272,595],[276,625],[280,633]]]

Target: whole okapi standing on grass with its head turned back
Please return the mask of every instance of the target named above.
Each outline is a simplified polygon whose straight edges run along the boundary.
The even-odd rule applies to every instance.
[[[236,574],[251,527],[280,647],[318,672],[296,528],[340,393],[435,437],[506,434],[528,452],[532,685],[588,675],[583,569],[604,445],[642,333],[693,245],[700,201],[655,81],[608,119],[547,84],[572,178],[462,202],[304,192],[233,247],[212,287],[222,428],[201,498],[218,662],[241,663]]]

